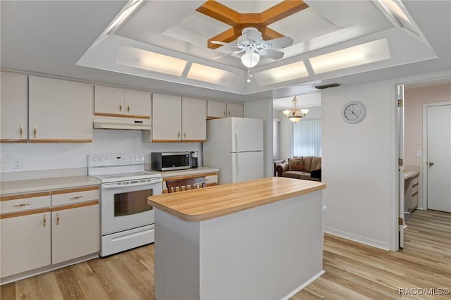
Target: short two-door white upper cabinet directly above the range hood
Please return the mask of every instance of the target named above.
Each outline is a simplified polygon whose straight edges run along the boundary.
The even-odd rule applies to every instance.
[[[149,119],[150,102],[150,92],[147,91],[95,85],[95,115]]]

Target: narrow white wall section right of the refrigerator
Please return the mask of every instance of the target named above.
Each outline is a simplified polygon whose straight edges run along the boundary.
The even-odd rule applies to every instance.
[[[274,175],[273,166],[273,101],[272,99],[245,103],[245,118],[263,119],[264,175]]]

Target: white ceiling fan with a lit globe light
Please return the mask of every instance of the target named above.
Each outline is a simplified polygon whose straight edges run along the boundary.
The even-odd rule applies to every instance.
[[[247,68],[252,68],[260,61],[260,56],[266,56],[272,59],[283,58],[284,53],[275,49],[285,48],[293,44],[290,37],[278,37],[276,39],[269,39],[264,41],[261,37],[261,32],[254,27],[246,27],[242,30],[241,36],[238,37],[236,44],[228,44],[226,42],[211,41],[212,44],[228,45],[237,48],[227,55],[235,55],[244,52],[241,56],[241,62]],[[215,58],[220,58],[218,56]]]

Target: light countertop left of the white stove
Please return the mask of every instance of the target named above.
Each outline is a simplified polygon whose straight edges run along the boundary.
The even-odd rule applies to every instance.
[[[85,187],[87,185],[100,185],[100,180],[88,175],[49,177],[30,180],[13,180],[0,182],[0,194],[25,194],[42,192],[54,189]]]

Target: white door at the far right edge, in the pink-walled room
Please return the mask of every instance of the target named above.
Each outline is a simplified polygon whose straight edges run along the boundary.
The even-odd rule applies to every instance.
[[[428,209],[451,213],[451,104],[426,109]]]

